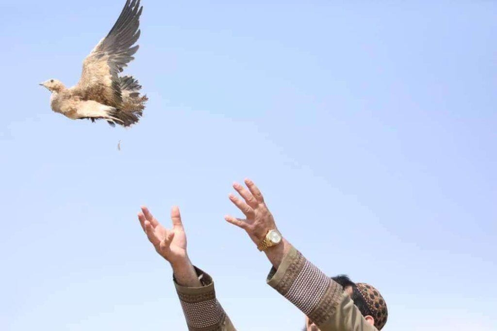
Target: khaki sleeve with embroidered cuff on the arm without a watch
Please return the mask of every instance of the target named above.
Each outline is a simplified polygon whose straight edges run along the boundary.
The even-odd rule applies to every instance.
[[[236,331],[216,299],[211,276],[195,267],[202,287],[184,287],[174,279],[189,331]]]

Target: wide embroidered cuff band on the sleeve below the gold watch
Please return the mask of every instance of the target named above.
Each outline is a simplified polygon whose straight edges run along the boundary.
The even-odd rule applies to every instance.
[[[299,308],[318,327],[328,321],[342,301],[343,288],[291,247],[267,283]]]

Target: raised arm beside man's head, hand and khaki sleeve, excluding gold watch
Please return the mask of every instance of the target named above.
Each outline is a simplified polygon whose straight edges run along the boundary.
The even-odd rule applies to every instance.
[[[230,195],[230,200],[245,214],[245,219],[225,219],[244,229],[257,245],[267,232],[277,229],[259,189],[250,180],[248,187],[235,183],[234,189],[243,198]],[[267,283],[299,308],[321,331],[374,331],[361,315],[343,288],[309,262],[286,239],[264,251],[272,264]]]

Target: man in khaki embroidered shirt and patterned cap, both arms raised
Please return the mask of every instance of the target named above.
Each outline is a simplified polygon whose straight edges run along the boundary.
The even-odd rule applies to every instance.
[[[245,218],[225,216],[226,221],[245,230],[263,251],[272,268],[267,283],[306,315],[306,331],[375,331],[387,322],[385,300],[373,286],[353,283],[346,276],[326,276],[282,237],[259,189],[245,180],[248,190],[235,183],[243,198],[230,194],[229,199]],[[216,298],[214,283],[206,272],[194,266],[187,254],[186,234],[179,208],[171,209],[172,228],[166,229],[143,206],[138,213],[140,224],[173,271],[189,331],[235,331],[235,327]]]

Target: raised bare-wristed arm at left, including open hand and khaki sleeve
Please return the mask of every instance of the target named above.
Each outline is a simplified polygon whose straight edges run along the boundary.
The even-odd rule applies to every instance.
[[[190,262],[186,234],[178,207],[171,210],[172,228],[166,229],[147,207],[138,213],[140,224],[172,267],[174,285],[190,331],[236,331],[216,299],[212,278]]]

